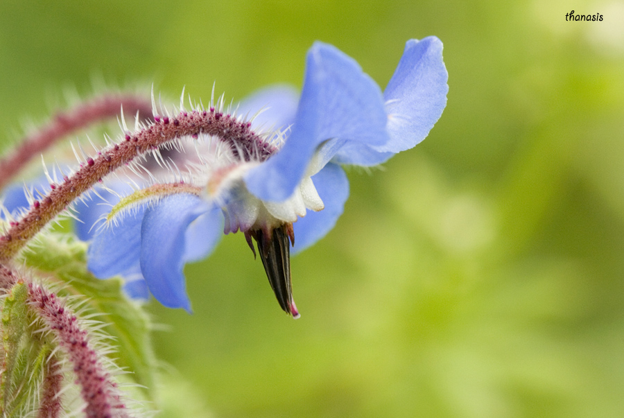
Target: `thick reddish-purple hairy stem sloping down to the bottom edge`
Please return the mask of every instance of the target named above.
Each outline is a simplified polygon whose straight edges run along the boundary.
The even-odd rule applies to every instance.
[[[102,366],[87,331],[80,328],[76,316],[54,293],[41,286],[29,283],[28,299],[31,307],[55,333],[61,349],[73,365],[76,383],[87,403],[87,417],[127,417],[125,406],[116,394],[116,383]]]

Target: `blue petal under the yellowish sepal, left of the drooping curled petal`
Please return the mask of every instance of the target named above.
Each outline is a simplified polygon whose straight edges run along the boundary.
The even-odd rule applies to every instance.
[[[108,279],[136,270],[145,210],[145,207],[139,207],[96,234],[87,252],[87,267],[96,277]]]

